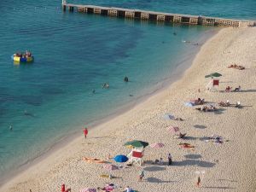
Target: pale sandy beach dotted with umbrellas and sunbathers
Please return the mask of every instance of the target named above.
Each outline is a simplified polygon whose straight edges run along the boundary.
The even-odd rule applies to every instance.
[[[38,164],[1,186],[2,192],[61,191],[61,184],[79,192],[84,188],[103,187],[106,183],[127,185],[140,192],[169,191],[256,191],[256,28],[224,28],[205,43],[183,77],[166,90],[137,104],[126,113],[89,129],[58,149]],[[244,70],[228,68],[230,64]],[[208,91],[205,79],[209,73],[221,73],[219,91]],[[241,85],[241,91],[225,92]],[[200,89],[200,92],[199,92]],[[190,99],[204,98],[215,103],[216,112],[201,112],[184,105]],[[241,108],[219,107],[218,102],[241,102]],[[167,120],[165,113],[184,119]],[[178,126],[187,133],[184,139],[172,136],[166,127]],[[218,135],[224,143],[206,142]],[[84,157],[108,160],[108,154],[129,154],[124,143],[133,139],[164,143],[164,148],[145,148],[143,169],[145,177],[138,181],[141,170],[127,166],[113,171],[115,178],[100,177],[109,172],[102,164],[88,163]],[[181,148],[190,143],[195,148]],[[167,154],[172,154],[172,166],[167,166]],[[150,160],[164,159],[164,165],[152,165]],[[113,164],[115,164],[113,162]],[[200,172],[201,187],[195,186]],[[122,187],[122,188],[120,188]]]

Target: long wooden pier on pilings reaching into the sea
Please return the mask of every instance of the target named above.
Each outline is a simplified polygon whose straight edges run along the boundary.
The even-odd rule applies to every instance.
[[[67,3],[62,0],[62,9],[73,12],[76,9],[78,12],[87,14],[105,15],[121,18],[129,18],[135,20],[155,20],[166,23],[179,23],[186,25],[200,25],[200,26],[253,26],[253,20],[230,20],[216,17],[205,17],[201,15],[178,15],[171,13],[160,13],[154,11],[145,11],[139,9],[122,9],[122,8],[108,8],[95,5],[82,5]]]

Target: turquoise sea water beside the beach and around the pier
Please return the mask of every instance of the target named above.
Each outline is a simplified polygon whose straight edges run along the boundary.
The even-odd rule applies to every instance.
[[[254,1],[73,2],[241,19],[256,15]],[[62,13],[61,1],[53,0],[3,0],[0,11],[0,177],[82,125],[157,90],[195,49],[182,40],[197,41],[211,29]],[[10,55],[26,49],[35,62],[15,65]],[[105,82],[108,90],[102,89]]]

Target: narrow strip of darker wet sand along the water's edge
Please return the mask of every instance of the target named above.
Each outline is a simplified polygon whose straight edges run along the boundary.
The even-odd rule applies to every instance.
[[[118,118],[120,115],[127,113],[132,108],[136,108],[137,105],[147,101],[150,99],[150,97],[159,94],[160,92],[168,89],[173,83],[175,83],[177,80],[181,79],[183,77],[183,74],[186,72],[186,70],[191,67],[193,60],[195,59],[195,56],[199,53],[201,50],[201,46],[207,42],[209,38],[212,38],[214,35],[216,35],[219,32],[219,29],[212,28],[209,31],[206,31],[204,35],[197,39],[196,43],[199,43],[199,46],[195,46],[192,44],[188,44],[188,46],[191,46],[191,48],[195,50],[189,50],[189,54],[186,53],[187,57],[184,60],[179,60],[176,63],[176,66],[174,67],[173,72],[170,74],[170,76],[166,77],[166,79],[163,79],[160,82],[157,82],[156,89],[151,90],[147,93],[143,93],[142,96],[137,97],[136,101],[132,101],[129,103],[125,103],[120,108],[117,108],[113,111],[113,113],[108,114],[103,119],[96,119],[91,122],[89,122],[88,126],[90,127],[90,130],[95,129],[97,126],[103,125],[107,123],[108,121]],[[190,40],[190,39],[189,39]],[[193,39],[191,42],[194,42]],[[73,131],[71,134],[68,134],[65,137],[62,137],[60,140],[53,143],[49,148],[46,148],[41,154],[38,156],[27,160],[24,164],[22,164],[18,170],[15,170],[14,172],[11,172],[10,174],[7,174],[6,176],[3,176],[0,178],[0,189],[4,185],[6,181],[12,180],[16,177],[16,175],[20,175],[22,172],[26,172],[26,169],[28,169],[31,166],[36,166],[41,161],[47,159],[50,155],[54,154],[55,151],[60,150],[61,148],[67,146],[69,143],[72,143],[77,138],[81,137],[82,131]]]

